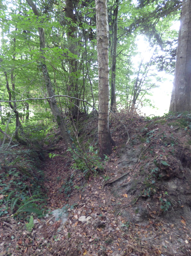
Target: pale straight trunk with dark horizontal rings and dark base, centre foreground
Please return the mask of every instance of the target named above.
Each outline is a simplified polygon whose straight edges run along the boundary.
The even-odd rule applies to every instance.
[[[98,138],[100,157],[112,153],[109,132],[109,25],[107,17],[107,0],[96,0],[97,55],[99,77],[99,118]]]

